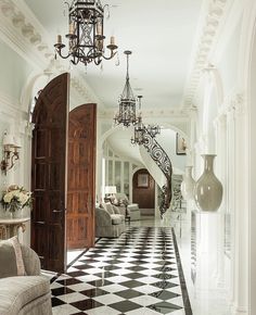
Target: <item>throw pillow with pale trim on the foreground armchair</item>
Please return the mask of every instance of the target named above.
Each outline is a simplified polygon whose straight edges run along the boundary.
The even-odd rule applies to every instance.
[[[25,267],[17,237],[0,241],[0,278],[24,275]]]

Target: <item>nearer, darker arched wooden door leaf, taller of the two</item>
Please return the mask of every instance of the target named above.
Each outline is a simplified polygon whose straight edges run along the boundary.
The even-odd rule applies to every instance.
[[[33,114],[31,248],[43,269],[65,270],[66,133],[69,75],[40,92]]]

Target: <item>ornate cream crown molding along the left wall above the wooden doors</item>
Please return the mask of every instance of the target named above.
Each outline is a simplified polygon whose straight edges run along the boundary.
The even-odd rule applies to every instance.
[[[54,60],[54,48],[48,33],[24,0],[0,1],[0,38],[34,68],[56,75],[69,71],[60,60]],[[85,103],[86,99],[86,102],[97,102],[102,106],[82,75],[76,71],[72,75],[71,85],[77,100]]]

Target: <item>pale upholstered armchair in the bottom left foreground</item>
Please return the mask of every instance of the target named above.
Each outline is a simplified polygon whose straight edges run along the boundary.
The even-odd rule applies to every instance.
[[[17,273],[12,275],[11,262],[1,266],[4,270],[1,270],[2,277],[0,277],[0,314],[51,315],[50,280],[40,274],[38,255],[24,244],[21,244],[21,250],[24,275],[17,275]],[[12,251],[11,248],[10,251]],[[4,255],[9,256],[10,251],[7,248]]]

